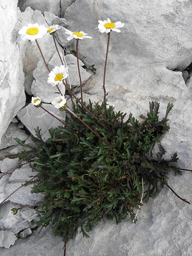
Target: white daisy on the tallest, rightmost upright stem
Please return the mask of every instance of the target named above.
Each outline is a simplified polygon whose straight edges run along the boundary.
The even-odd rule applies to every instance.
[[[118,28],[122,28],[125,23],[121,23],[120,21],[117,21],[116,23],[111,22],[111,20],[108,18],[108,20],[98,20],[99,25],[96,29],[99,29],[99,32],[101,33],[109,33],[111,30],[115,32],[121,32]]]

